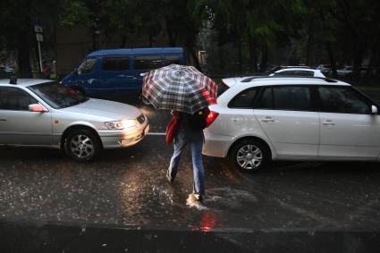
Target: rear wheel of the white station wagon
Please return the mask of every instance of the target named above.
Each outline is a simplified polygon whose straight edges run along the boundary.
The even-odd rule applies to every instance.
[[[270,161],[270,151],[256,139],[243,139],[232,148],[230,163],[244,173],[257,173]]]

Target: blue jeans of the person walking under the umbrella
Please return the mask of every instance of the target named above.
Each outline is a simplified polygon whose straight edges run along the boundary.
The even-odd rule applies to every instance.
[[[175,178],[183,150],[189,143],[191,146],[193,169],[193,193],[205,195],[205,171],[202,161],[203,131],[178,131],[174,137],[174,152],[168,169],[168,177]]]

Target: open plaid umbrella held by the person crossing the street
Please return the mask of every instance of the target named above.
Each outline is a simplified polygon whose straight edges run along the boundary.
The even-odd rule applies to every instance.
[[[216,104],[215,81],[192,66],[171,64],[144,76],[142,96],[156,109],[194,114]]]

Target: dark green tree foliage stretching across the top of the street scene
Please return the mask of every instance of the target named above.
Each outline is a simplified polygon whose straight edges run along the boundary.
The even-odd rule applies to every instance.
[[[365,59],[380,64],[377,0],[2,0],[0,10],[0,46],[13,51],[35,46],[35,18],[52,45],[56,27],[80,24],[103,39],[118,38],[121,46],[164,34],[168,46],[192,51],[198,32],[211,24],[218,45],[249,47],[249,57],[298,43],[298,56],[315,62],[334,56],[356,66]],[[326,45],[330,58],[313,53]]]

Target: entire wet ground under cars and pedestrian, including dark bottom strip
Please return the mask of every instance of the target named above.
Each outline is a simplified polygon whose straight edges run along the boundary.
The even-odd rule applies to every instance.
[[[207,209],[198,210],[186,206],[189,150],[173,185],[165,180],[173,148],[156,133],[168,112],[139,107],[152,134],[89,164],[54,149],[0,148],[0,252],[378,249],[378,163],[282,162],[249,174],[205,157]]]

